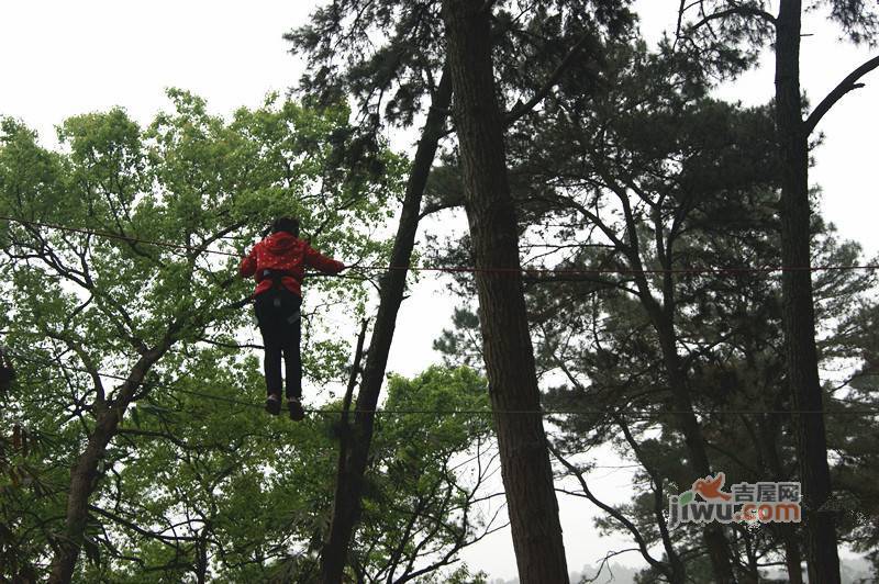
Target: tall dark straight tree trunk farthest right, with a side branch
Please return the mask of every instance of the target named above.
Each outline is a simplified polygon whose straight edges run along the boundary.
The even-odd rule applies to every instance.
[[[782,0],[776,38],[776,119],[781,147],[781,276],[788,380],[803,487],[809,582],[839,582],[836,525],[822,510],[831,497],[812,300],[809,205],[809,136],[800,93],[801,0]]]

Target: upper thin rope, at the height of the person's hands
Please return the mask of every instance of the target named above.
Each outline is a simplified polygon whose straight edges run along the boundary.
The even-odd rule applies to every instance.
[[[119,239],[129,243],[137,243],[145,245],[153,245],[157,247],[165,247],[168,249],[177,249],[181,251],[192,251],[192,246],[182,244],[173,244],[168,242],[158,242],[153,239],[143,239],[141,237],[133,237],[112,232],[101,232],[94,229],[87,229],[82,227],[71,227],[67,225],[59,225],[55,223],[44,223],[21,217],[10,217],[0,215],[0,221],[11,223],[19,223],[22,225],[31,225],[37,227],[46,227],[49,229],[58,229],[63,232],[78,233],[82,235],[93,235],[98,237],[105,237],[110,239]],[[243,256],[237,252],[223,251],[220,249],[202,249],[204,254],[215,254],[225,257],[233,257],[243,259]],[[848,271],[848,270],[879,270],[879,263],[860,263],[853,266],[739,266],[727,268],[658,268],[658,269],[626,269],[626,268],[530,268],[530,267],[489,267],[480,268],[476,266],[445,266],[445,267],[422,267],[422,266],[348,266],[348,270],[358,270],[364,272],[386,272],[409,270],[413,272],[439,272],[439,273],[524,273],[526,276],[636,276],[636,274],[679,274],[679,276],[699,276],[699,274],[715,274],[715,276],[733,276],[743,273],[777,273],[777,272],[792,272],[792,271],[809,271],[809,272],[825,272],[825,271]]]

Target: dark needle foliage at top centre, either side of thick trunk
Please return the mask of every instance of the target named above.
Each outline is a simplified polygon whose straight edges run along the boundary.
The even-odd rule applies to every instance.
[[[628,0],[492,2],[494,67],[511,109],[533,93],[571,47],[590,64],[608,37],[628,34]],[[309,24],[285,35],[307,59],[300,87],[326,103],[351,96],[369,127],[412,125],[436,91],[445,64],[441,2],[342,0],[314,10]],[[527,66],[524,66],[524,65]]]

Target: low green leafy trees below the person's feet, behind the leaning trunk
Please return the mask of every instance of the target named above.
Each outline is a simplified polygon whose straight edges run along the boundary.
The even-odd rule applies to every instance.
[[[192,366],[174,386],[151,392],[121,429],[110,452],[115,478],[93,509],[104,552],[81,581],[312,582],[332,505],[338,404],[302,424],[267,419],[240,400],[260,390],[255,360],[236,364],[234,351],[222,349]],[[200,396],[205,382],[216,388],[210,400]],[[486,402],[472,371],[431,369],[392,378],[386,407],[483,409]],[[379,422],[352,577],[402,583],[469,573],[448,566],[497,528],[475,508],[491,496],[488,434],[485,417]],[[476,475],[464,464],[471,458],[485,464]]]

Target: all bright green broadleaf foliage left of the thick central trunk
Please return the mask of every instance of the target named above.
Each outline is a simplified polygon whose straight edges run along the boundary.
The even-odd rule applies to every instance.
[[[99,463],[77,581],[308,581],[315,570],[337,422],[262,412],[259,361],[237,347],[251,316],[225,307],[249,288],[234,281],[236,256],[270,218],[293,214],[323,251],[376,261],[386,246],[371,234],[404,161],[385,149],[352,154],[359,146],[344,108],[269,99],[226,122],[200,98],[169,97],[173,111],[145,130],[122,110],[66,121],[60,151],[3,121],[0,212],[82,229],[2,226],[11,295],[0,325],[20,379],[0,417],[33,437],[27,456],[5,441],[0,450],[10,526],[0,542],[15,560],[4,577],[46,569],[68,469],[138,356],[165,338],[169,350]],[[342,300],[348,314],[361,312],[367,293],[352,280],[309,283],[307,300],[325,304],[307,314],[305,368],[325,384],[342,378],[347,339],[320,321]],[[387,405],[482,409],[486,384],[466,369],[431,369],[393,378]],[[489,429],[472,416],[379,422],[357,570],[427,582],[491,528],[470,508],[483,476],[454,467],[482,453]],[[479,581],[466,568],[448,577]]]

